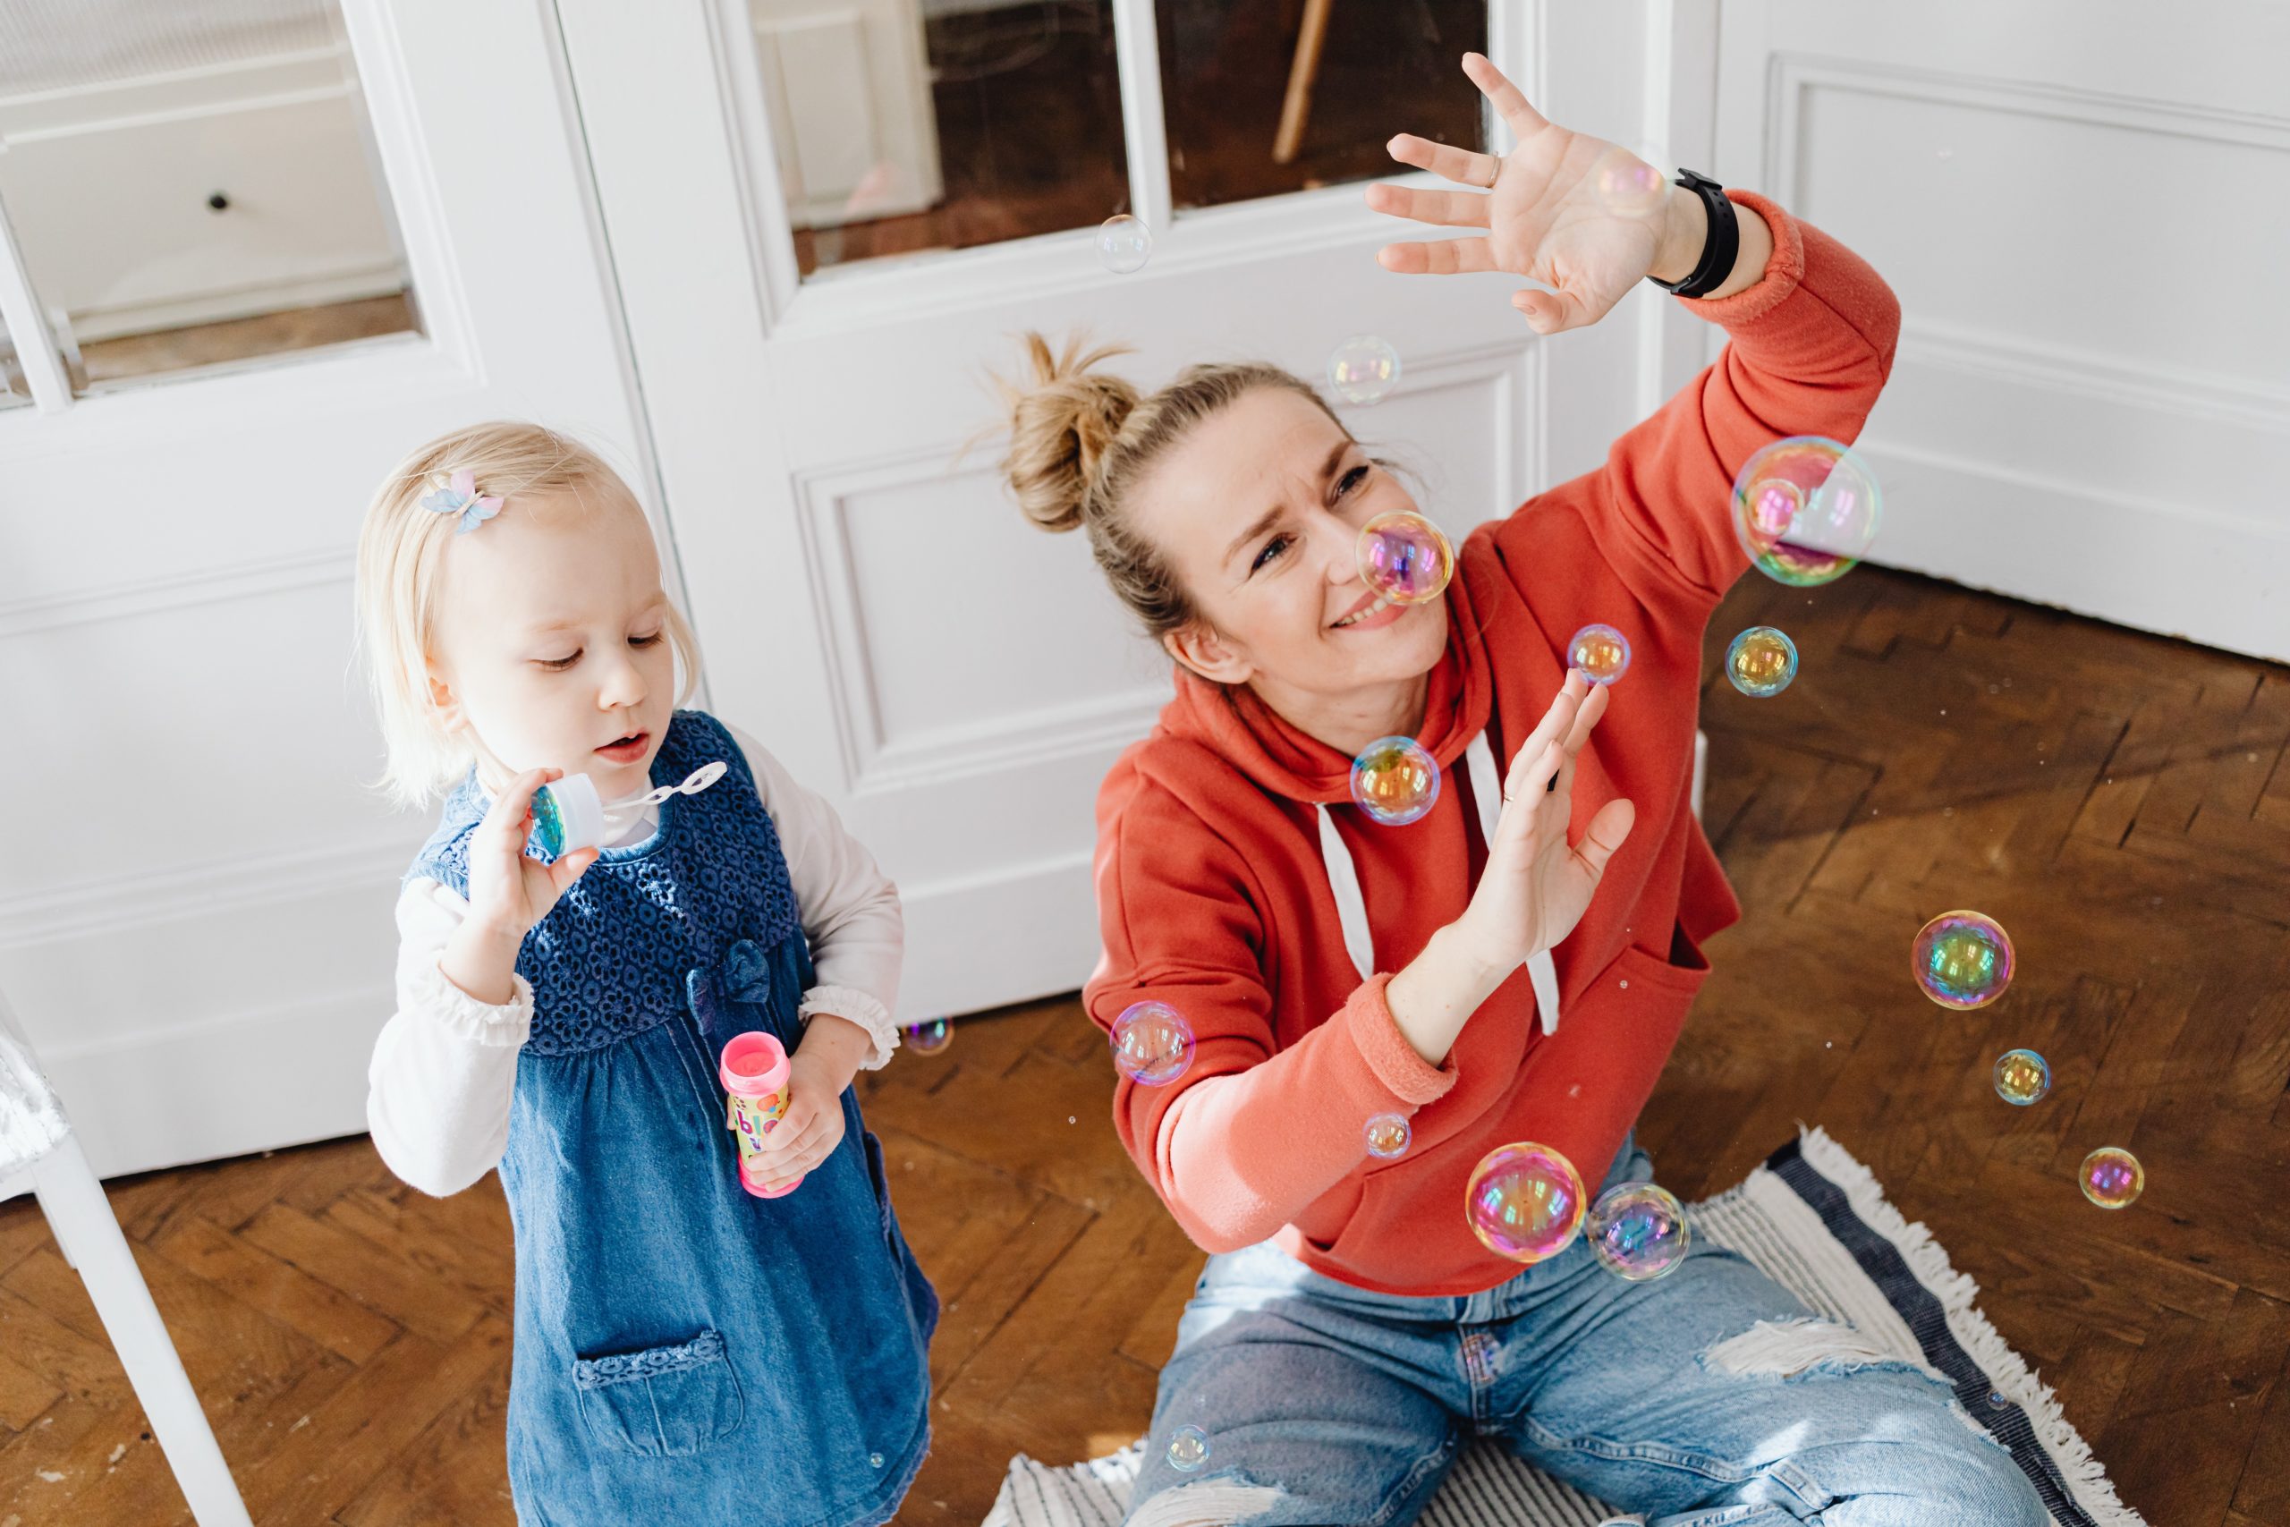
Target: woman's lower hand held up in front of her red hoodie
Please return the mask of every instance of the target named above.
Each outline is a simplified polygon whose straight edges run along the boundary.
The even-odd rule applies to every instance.
[[[1582,842],[1566,842],[1576,755],[1605,705],[1603,685],[1592,687],[1580,671],[1569,671],[1541,726],[1511,758],[1486,870],[1470,907],[1454,923],[1488,968],[1511,971],[1571,934],[1589,909],[1605,861],[1630,836],[1637,808],[1630,801],[1608,801],[1589,820]]]

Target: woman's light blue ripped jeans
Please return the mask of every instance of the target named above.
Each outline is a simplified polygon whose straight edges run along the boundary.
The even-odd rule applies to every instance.
[[[1651,1177],[1624,1142],[1608,1184]],[[1271,1243],[1211,1257],[1161,1369],[1129,1522],[1404,1527],[1470,1435],[1651,1527],[2047,1522],[1946,1385],[1871,1362],[1850,1330],[1713,1351],[1800,1319],[1786,1289],[1713,1245],[1633,1284],[1576,1239],[1468,1298],[1369,1293]],[[1209,1438],[1191,1474],[1168,1463],[1179,1426]]]

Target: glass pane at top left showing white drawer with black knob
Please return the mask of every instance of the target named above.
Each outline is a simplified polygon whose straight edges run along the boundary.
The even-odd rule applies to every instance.
[[[419,330],[334,0],[0,0],[0,144],[78,387]]]

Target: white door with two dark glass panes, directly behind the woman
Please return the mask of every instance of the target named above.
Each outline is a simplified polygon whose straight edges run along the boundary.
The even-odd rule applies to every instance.
[[[872,11],[845,9],[850,25]],[[1459,536],[1594,465],[1633,421],[1644,309],[1537,343],[1505,277],[1385,275],[1374,250],[1420,231],[1365,211],[1356,176],[1374,169],[1342,137],[1381,160],[1390,133],[1456,110],[1477,135],[1459,71],[1472,46],[1550,117],[1621,142],[1644,142],[1651,98],[1635,9],[1333,7],[1317,73],[1296,69],[1276,0],[921,9],[943,204],[799,231],[779,167],[806,153],[774,133],[802,121],[772,98],[788,82],[758,66],[744,0],[559,2],[714,703],[836,799],[900,881],[907,1016],[1081,984],[1095,792],[1168,694],[1083,538],[1024,524],[996,440],[964,453],[992,426],[985,373],[1012,362],[1014,334],[1131,343],[1120,364],[1143,385],[1211,357],[1321,375],[1347,334],[1381,334],[1401,385],[1349,419],[1420,472]],[[1411,32],[1379,41],[1379,25]],[[1019,110],[1044,50],[1072,73]],[[1303,151],[1280,160],[1292,98]],[[1079,144],[1067,185],[1099,199],[1044,211],[1056,185],[1010,169],[1037,144],[976,137],[998,110]],[[996,172],[1001,195],[964,201],[964,176]],[[1115,211],[1152,229],[1131,275],[1095,254]],[[932,243],[966,247],[861,259]]]

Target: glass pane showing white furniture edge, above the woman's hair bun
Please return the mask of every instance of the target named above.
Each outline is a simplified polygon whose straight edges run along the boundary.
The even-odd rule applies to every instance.
[[[749,0],[804,275],[1127,208],[1111,0]]]

